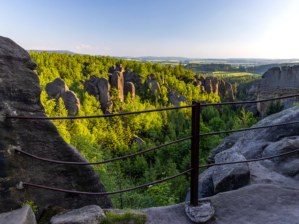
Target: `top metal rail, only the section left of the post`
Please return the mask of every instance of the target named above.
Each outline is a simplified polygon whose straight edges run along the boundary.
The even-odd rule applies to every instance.
[[[137,114],[137,113],[149,113],[149,112],[155,112],[155,111],[167,111],[167,110],[189,108],[189,107],[193,107],[193,106],[194,105],[187,105],[187,106],[180,106],[180,107],[159,108],[159,109],[146,110],[146,111],[133,111],[133,112],[125,112],[125,113],[112,113],[112,114],[102,114],[102,115],[92,115],[92,116],[28,117],[28,116],[10,116],[10,115],[6,115],[6,118],[15,118],[15,119],[40,119],[40,120],[85,119],[85,118],[99,118],[99,117],[114,117],[114,116],[122,116],[122,115]]]

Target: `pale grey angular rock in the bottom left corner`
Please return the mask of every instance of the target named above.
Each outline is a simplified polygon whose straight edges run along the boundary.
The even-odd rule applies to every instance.
[[[24,205],[20,209],[1,213],[0,224],[36,224],[36,220],[30,205]]]

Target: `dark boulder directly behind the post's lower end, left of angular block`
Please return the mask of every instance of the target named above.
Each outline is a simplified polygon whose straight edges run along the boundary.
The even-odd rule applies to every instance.
[[[198,198],[214,195],[213,174],[214,166],[206,169],[198,176]],[[190,201],[190,188],[187,191],[185,201]]]

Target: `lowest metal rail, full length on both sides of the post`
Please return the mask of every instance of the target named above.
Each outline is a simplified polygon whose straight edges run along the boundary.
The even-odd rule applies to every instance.
[[[275,155],[275,156],[270,156],[270,157],[264,157],[264,158],[259,158],[259,159],[250,159],[250,160],[241,160],[241,161],[234,161],[234,162],[213,163],[213,164],[198,166],[198,168],[209,167],[209,166],[218,166],[218,165],[227,165],[227,164],[234,164],[234,163],[243,163],[243,162],[254,162],[254,161],[260,161],[260,160],[264,160],[264,159],[271,159],[271,158],[275,158],[275,157],[280,157],[280,156],[284,156],[284,155],[295,153],[295,152],[299,152],[299,149],[294,150],[294,151],[290,151],[290,152],[286,152],[286,153],[282,153],[282,154],[278,154],[278,155]],[[118,194],[118,193],[122,193],[122,192],[126,192],[126,191],[132,191],[132,190],[135,190],[135,189],[138,189],[138,188],[143,188],[143,187],[146,187],[146,186],[149,186],[149,185],[152,185],[152,184],[161,183],[163,181],[170,180],[170,179],[173,179],[175,177],[179,177],[183,174],[186,174],[190,171],[193,171],[194,169],[195,168],[191,168],[187,171],[184,171],[180,174],[176,174],[172,177],[167,177],[165,179],[161,179],[161,180],[158,180],[158,181],[155,181],[155,182],[140,185],[140,186],[137,186],[137,187],[134,187],[134,188],[129,188],[129,189],[121,190],[121,191],[112,191],[112,192],[93,193],[93,192],[69,191],[69,190],[63,190],[63,189],[58,189],[58,188],[46,187],[46,186],[42,186],[42,185],[30,184],[30,183],[26,183],[26,182],[19,182],[18,188],[23,188],[24,185],[28,185],[28,186],[32,186],[32,187],[38,187],[38,188],[44,188],[44,189],[53,190],[53,191],[61,191],[61,192],[74,193],[74,194],[91,194],[91,195]]]

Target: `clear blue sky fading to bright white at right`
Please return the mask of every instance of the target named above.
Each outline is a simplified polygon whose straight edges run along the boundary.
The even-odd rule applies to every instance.
[[[26,50],[110,56],[299,58],[298,0],[3,1]]]

